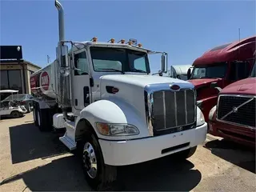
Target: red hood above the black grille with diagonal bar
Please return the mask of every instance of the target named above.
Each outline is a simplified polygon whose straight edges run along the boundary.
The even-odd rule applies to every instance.
[[[245,78],[226,86],[220,94],[256,95],[256,78]]]

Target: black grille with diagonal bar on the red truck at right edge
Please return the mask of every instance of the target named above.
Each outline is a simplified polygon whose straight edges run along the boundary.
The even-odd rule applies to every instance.
[[[255,127],[255,101],[254,96],[220,95],[217,118],[222,122]]]

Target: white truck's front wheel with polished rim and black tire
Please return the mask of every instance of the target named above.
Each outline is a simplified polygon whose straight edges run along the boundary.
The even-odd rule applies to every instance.
[[[82,169],[93,190],[110,189],[117,178],[117,167],[105,165],[102,150],[94,134],[86,134],[81,142]]]

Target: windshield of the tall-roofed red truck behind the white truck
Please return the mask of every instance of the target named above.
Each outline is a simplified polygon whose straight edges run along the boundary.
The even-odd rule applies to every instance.
[[[194,66],[191,78],[224,78],[226,76],[226,62],[213,64],[210,66]]]

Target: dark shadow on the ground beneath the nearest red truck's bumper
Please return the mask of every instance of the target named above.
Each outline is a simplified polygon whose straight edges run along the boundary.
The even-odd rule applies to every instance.
[[[225,139],[206,142],[205,147],[206,149],[211,150],[211,153],[219,158],[223,158],[254,174],[256,173],[254,149]]]

